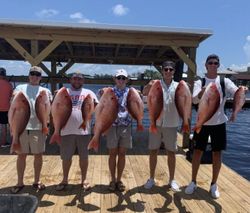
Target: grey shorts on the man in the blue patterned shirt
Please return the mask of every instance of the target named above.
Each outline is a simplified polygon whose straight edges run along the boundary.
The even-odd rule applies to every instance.
[[[132,148],[131,126],[112,126],[107,132],[107,148]]]

